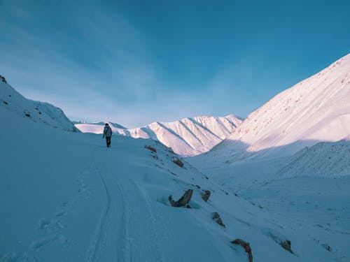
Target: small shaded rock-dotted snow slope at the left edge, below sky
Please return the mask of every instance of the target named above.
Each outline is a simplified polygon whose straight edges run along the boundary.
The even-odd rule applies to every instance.
[[[15,112],[15,114],[27,117],[34,122],[48,124],[65,131],[78,132],[78,129],[69,121],[60,108],[50,103],[26,99],[3,81],[0,81],[0,108]]]

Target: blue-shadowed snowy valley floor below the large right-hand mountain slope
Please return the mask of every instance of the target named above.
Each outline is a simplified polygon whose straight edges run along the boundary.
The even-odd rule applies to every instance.
[[[290,157],[255,157],[222,163],[207,155],[187,161],[223,190],[236,192],[267,210],[275,221],[284,221],[287,228],[300,235],[306,233],[306,239],[328,250],[335,261],[349,261],[349,137],[305,147]]]

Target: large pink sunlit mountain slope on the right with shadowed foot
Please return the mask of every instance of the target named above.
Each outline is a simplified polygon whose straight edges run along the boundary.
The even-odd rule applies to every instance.
[[[251,153],[283,156],[341,140],[350,133],[349,101],[350,54],[274,96],[209,154],[224,161]]]

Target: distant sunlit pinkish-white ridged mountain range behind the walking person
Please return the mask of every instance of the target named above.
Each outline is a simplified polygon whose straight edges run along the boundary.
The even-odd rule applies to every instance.
[[[193,117],[176,122],[154,122],[136,129],[120,129],[110,124],[114,133],[132,138],[152,138],[176,154],[195,156],[209,151],[220,143],[241,124],[243,119],[235,115],[227,117]],[[76,124],[83,133],[103,133],[99,124]]]

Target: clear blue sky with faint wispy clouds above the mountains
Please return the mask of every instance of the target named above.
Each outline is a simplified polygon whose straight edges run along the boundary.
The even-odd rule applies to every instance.
[[[0,74],[71,119],[247,117],[350,52],[350,1],[0,0]]]

